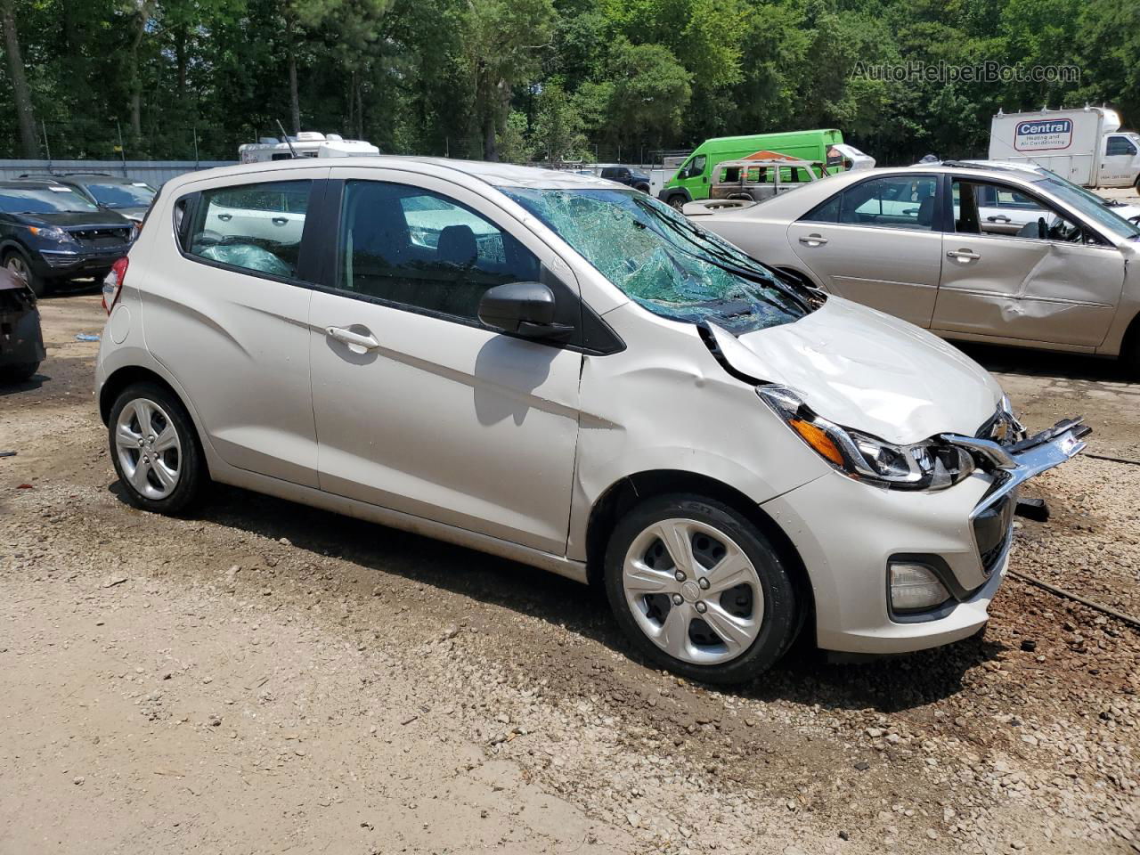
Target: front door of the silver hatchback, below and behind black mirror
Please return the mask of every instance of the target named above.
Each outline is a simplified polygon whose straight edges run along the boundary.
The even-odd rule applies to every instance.
[[[581,353],[497,333],[478,306],[543,280],[572,311],[569,270],[448,181],[333,174],[336,261],[310,310],[321,489],[565,554]]]

